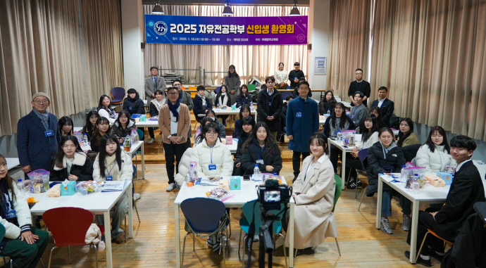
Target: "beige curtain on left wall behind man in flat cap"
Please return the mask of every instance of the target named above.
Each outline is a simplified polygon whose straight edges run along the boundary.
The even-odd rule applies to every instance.
[[[39,91],[51,96],[49,111],[58,117],[95,106],[101,91],[109,92],[109,83],[101,80],[88,87],[85,81],[92,81],[92,75],[86,70],[110,72],[114,75],[109,82],[123,84],[121,51],[116,48],[121,42],[119,1],[81,1],[81,11],[91,13],[91,19],[104,18],[99,23],[106,32],[98,25],[80,27],[78,4],[78,0],[0,1],[0,136],[17,131],[18,120],[30,113],[31,97]],[[106,55],[91,60],[101,46]],[[91,60],[87,65],[85,55]]]

